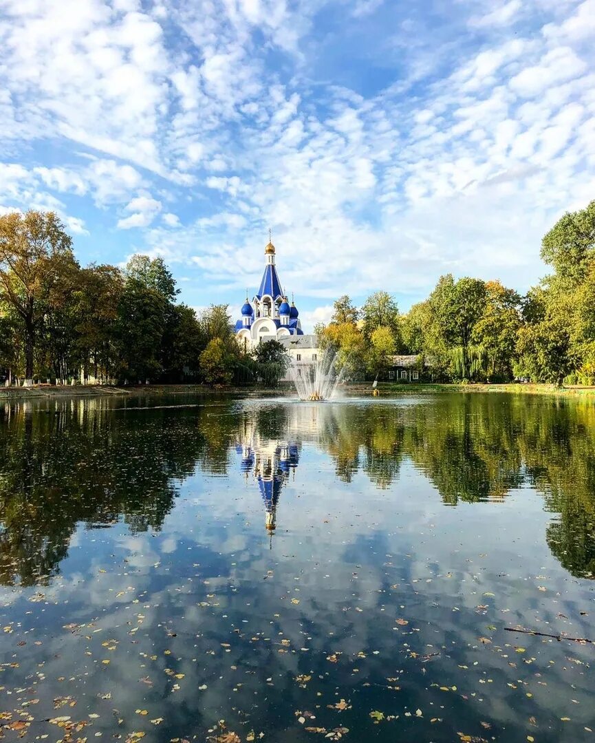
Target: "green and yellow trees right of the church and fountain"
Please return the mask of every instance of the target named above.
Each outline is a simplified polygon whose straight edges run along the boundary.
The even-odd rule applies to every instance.
[[[498,281],[441,276],[428,299],[399,314],[385,291],[362,308],[334,303],[316,331],[355,377],[394,354],[418,354],[435,380],[595,383],[595,201],[544,236],[552,273],[525,295]]]

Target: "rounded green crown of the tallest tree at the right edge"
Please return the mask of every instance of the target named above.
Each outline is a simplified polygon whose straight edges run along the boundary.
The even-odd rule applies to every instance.
[[[578,212],[566,212],[542,240],[542,259],[560,276],[579,281],[595,249],[595,201]]]

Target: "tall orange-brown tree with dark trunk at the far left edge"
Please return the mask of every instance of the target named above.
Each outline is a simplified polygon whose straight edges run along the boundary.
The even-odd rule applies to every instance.
[[[53,212],[12,212],[0,217],[0,300],[24,326],[25,378],[33,379],[36,334],[51,294],[74,265],[71,238]]]

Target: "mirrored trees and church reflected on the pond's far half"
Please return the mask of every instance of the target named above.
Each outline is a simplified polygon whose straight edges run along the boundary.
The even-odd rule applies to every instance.
[[[48,583],[79,524],[159,530],[197,468],[212,476],[241,468],[273,531],[285,481],[315,477],[304,447],[325,452],[339,480],[362,473],[387,491],[411,464],[449,506],[533,487],[555,514],[546,535],[552,553],[574,576],[595,573],[591,403],[504,394],[328,404],[195,399],[179,409],[141,402],[4,406],[1,583]]]

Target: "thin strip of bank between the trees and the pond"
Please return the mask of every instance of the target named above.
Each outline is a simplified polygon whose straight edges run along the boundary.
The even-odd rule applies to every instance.
[[[371,383],[347,383],[341,385],[342,392],[372,397]],[[595,396],[595,386],[569,385],[556,387],[551,384],[538,383],[503,383],[503,384],[456,384],[456,383],[391,383],[380,382],[377,386],[380,397],[397,395],[443,395],[449,392],[458,393],[493,393],[507,392],[515,395],[554,395],[557,397],[591,397]],[[40,400],[51,398],[92,398],[111,395],[246,395],[267,397],[269,395],[292,395],[290,386],[276,389],[259,389],[258,387],[220,387],[201,384],[149,384],[129,387],[76,385],[53,386],[39,385],[33,387],[0,388],[0,400]]]

